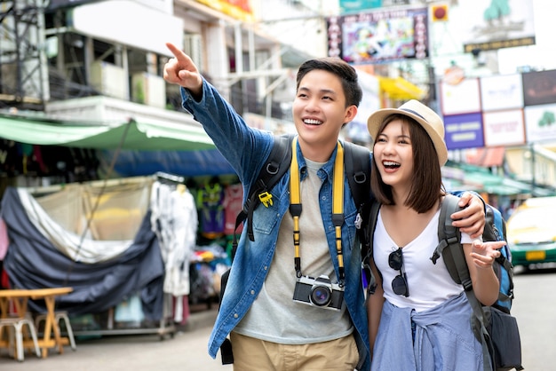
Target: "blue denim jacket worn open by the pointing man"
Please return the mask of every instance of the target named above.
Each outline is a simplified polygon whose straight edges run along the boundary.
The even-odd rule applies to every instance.
[[[183,107],[194,115],[195,120],[203,124],[204,130],[214,141],[221,154],[230,162],[242,185],[244,197],[258,171],[263,166],[266,157],[274,143],[271,133],[254,130],[243,122],[242,117],[220,97],[218,91],[203,82],[203,99],[196,102],[189,91],[181,89]],[[369,153],[370,155],[370,153]],[[321,204],[322,221],[329,243],[330,257],[338,276],[338,258],[336,254],[335,229],[332,223],[332,170],[336,150],[330,160],[322,167],[325,178],[319,200]],[[300,177],[306,178],[306,162],[298,146],[298,162]],[[321,170],[321,171],[322,171]],[[321,173],[321,172],[320,172]],[[234,264],[226,285],[226,294],[220,304],[218,318],[212,329],[209,340],[209,353],[216,358],[220,345],[226,336],[242,320],[250,305],[258,296],[266,273],[274,257],[278,229],[282,217],[289,212],[290,207],[290,171],[271,190],[273,205],[266,208],[259,205],[252,217],[255,241],[250,241],[243,228],[238,249],[234,257]],[[355,217],[357,209],[345,179],[344,185],[344,216],[342,225],[342,244],[344,264],[346,268],[346,291],[344,300],[354,327],[354,335],[360,353],[358,369],[369,369],[369,332],[367,328],[367,312],[364,304],[364,292],[361,283],[361,254],[355,241]],[[370,197],[370,190],[369,190]],[[293,264],[293,262],[291,262]],[[292,288],[295,277],[292,277]],[[293,293],[292,293],[293,295]],[[266,320],[273,320],[269,316]]]

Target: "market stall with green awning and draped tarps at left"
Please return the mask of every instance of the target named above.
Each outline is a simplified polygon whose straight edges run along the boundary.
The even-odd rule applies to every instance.
[[[4,282],[14,288],[74,288],[60,298],[57,310],[72,315],[76,335],[173,334],[173,325],[187,320],[188,296],[199,294],[191,292],[196,281],[189,280],[190,262],[206,265],[225,257],[211,252],[207,258],[196,244],[201,231],[197,193],[217,175],[225,176],[222,187],[236,182],[210,139],[196,129],[132,120],[95,129],[4,115],[0,126],[14,120],[18,129],[2,136],[15,147],[32,149],[26,161],[52,146],[92,149],[98,168],[91,173],[112,177],[41,186],[41,179],[47,184],[57,179],[44,182],[48,174],[18,170],[7,174],[36,186],[20,186],[18,180],[4,190]],[[20,153],[16,150],[14,156]],[[173,160],[156,166],[164,155]],[[14,162],[22,161],[18,157]],[[151,163],[144,177],[122,177],[115,170],[133,173],[145,168],[142,161]],[[176,168],[179,163],[186,166]],[[203,168],[211,170],[203,173]],[[34,176],[38,181],[29,182]],[[193,183],[199,189],[187,186]],[[212,239],[224,236],[217,231]],[[41,303],[29,303],[29,308],[44,311]]]

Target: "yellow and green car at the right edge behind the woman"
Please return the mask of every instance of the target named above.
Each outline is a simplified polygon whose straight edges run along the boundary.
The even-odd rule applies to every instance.
[[[530,198],[506,223],[514,266],[556,262],[556,197]]]

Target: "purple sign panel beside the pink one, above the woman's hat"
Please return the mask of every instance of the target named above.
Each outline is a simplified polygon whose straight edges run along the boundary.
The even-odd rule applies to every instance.
[[[449,150],[484,146],[481,114],[444,116],[444,139]]]

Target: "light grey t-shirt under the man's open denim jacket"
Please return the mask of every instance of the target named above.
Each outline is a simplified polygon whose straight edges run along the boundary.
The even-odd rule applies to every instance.
[[[301,182],[299,217],[299,255],[303,275],[318,277],[326,274],[338,283],[330,259],[330,251],[322,225],[319,190],[322,180],[317,171],[322,163],[306,160],[307,177]],[[293,301],[297,281],[293,246],[293,217],[282,218],[274,260],[263,288],[234,331],[273,343],[321,343],[353,332],[346,304],[340,311],[300,304]]]

